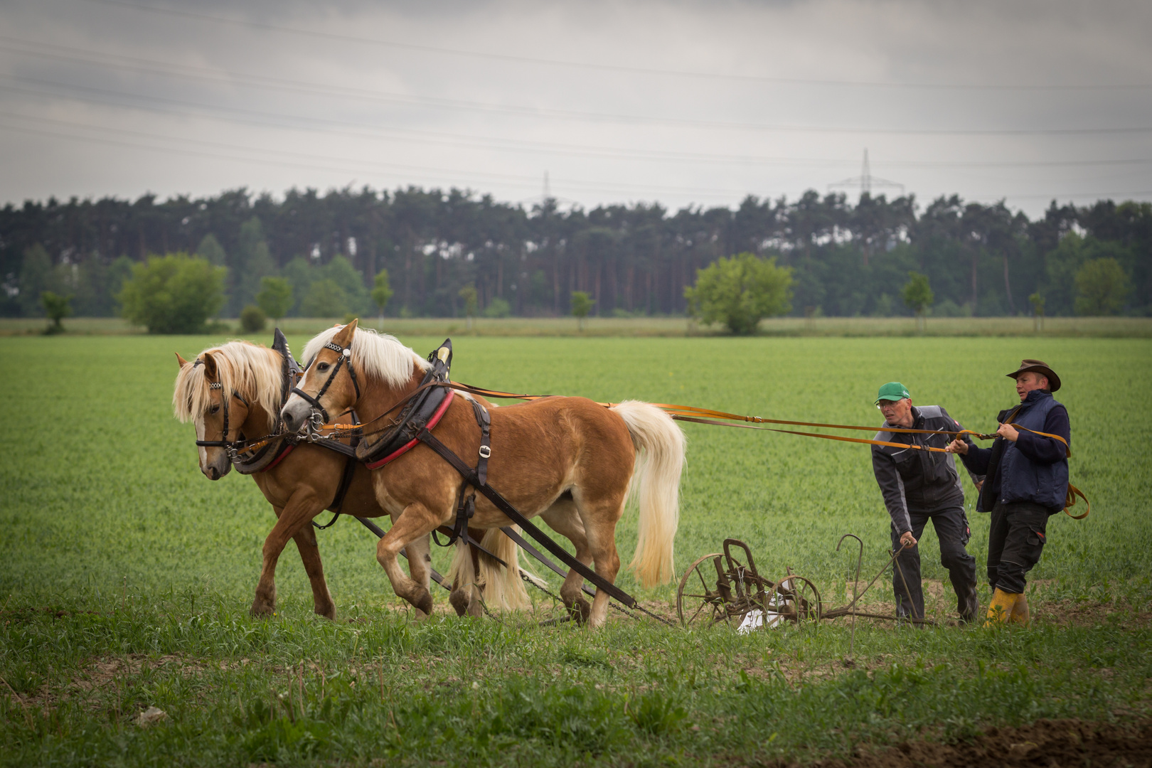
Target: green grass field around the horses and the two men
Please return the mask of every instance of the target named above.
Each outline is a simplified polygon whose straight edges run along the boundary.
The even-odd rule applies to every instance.
[[[424,353],[442,336],[402,340]],[[192,428],[169,405],[173,351],[219,341],[0,340],[0,763],[738,765],[1040,717],[1149,716],[1152,342],[454,339],[454,378],[479,386],[879,424],[876,388],[900,379],[915,402],[977,429],[1015,398],[1005,372],[1022,357],[1052,363],[1073,419],[1073,481],[1093,510],[1049,523],[1031,573],[1034,628],[861,622],[847,667],[843,621],[738,636],[614,614],[593,633],[537,626],[556,615],[540,596],[532,615],[410,623],[373,538],[349,520],[319,534],[339,621],[311,614],[291,545],[279,614],[250,618],[272,512],[248,478],[204,479]],[[290,336],[297,351],[304,341]],[[866,447],[691,424],[685,433],[677,569],[736,537],[761,571],[791,567],[833,607],[846,602],[854,560],[835,553],[841,534],[864,539],[865,578],[886,562]],[[983,565],[987,518],[970,511],[970,522]],[[617,542],[627,560],[632,515]],[[947,619],[934,534],[920,549],[930,617]],[[627,573],[620,583],[637,588]],[[674,588],[638,596],[667,613]],[[890,604],[887,577],[870,596]],[[153,705],[167,720],[132,724]]]

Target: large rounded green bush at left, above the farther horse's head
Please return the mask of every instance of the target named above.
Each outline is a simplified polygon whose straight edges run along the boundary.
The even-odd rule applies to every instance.
[[[149,257],[132,265],[132,276],[116,297],[123,317],[149,333],[203,333],[223,305],[225,267],[187,253]]]

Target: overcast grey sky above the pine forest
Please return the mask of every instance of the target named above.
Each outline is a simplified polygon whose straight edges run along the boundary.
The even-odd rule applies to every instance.
[[[1152,199],[1152,2],[0,2],[0,203]],[[857,180],[858,181],[858,180]],[[856,185],[842,189],[855,199]],[[873,181],[873,193],[900,187]]]

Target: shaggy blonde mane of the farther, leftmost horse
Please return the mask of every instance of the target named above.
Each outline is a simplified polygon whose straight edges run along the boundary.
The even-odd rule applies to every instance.
[[[230,341],[210,347],[196,357],[202,359],[205,355],[211,355],[217,364],[220,391],[235,391],[250,403],[259,403],[268,415],[267,429],[271,432],[280,411],[283,362],[280,352],[249,341]],[[204,368],[203,365],[183,365],[176,374],[172,408],[181,421],[198,420],[212,402],[211,382]]]

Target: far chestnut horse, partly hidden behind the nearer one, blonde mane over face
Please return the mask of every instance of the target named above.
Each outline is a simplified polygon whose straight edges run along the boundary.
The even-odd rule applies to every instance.
[[[198,441],[238,441],[237,446],[243,446],[245,436],[255,441],[275,431],[276,412],[283,397],[285,359],[279,351],[234,341],[203,351],[195,363],[180,355],[176,359],[180,373],[172,398],[174,411],[181,421],[195,423]],[[334,618],[335,604],[324,578],[311,522],[336,500],[347,459],[332,450],[309,443],[296,444],[286,438],[279,435],[263,448],[240,453],[235,461],[238,471],[256,480],[276,515],[276,524],[264,541],[264,567],[251,613],[265,615],[275,610],[276,562],[288,539],[294,539],[312,586],[316,613]],[[232,470],[233,459],[222,446],[202,446],[199,464],[205,477],[218,480]],[[388,514],[377,503],[371,476],[359,462],[355,462],[355,472],[346,485],[339,511],[356,517]],[[473,533],[479,535],[478,531]],[[411,577],[427,588],[431,577],[429,537],[417,537],[407,543]],[[456,583],[450,598],[453,607],[461,614],[479,615],[478,585],[484,585],[490,607],[515,609],[529,604],[518,572],[520,548],[500,531],[488,532],[482,545],[509,568],[480,557],[473,570],[470,557],[467,561],[460,556],[454,558],[447,575]],[[430,613],[431,604],[420,610]]]

